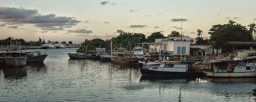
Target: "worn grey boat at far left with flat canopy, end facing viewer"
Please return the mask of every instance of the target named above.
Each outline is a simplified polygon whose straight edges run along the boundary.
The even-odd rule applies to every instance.
[[[3,58],[6,66],[26,66],[27,53],[18,51],[4,52]]]

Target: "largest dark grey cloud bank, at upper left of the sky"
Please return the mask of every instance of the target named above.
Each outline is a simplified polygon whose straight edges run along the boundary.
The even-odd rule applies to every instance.
[[[0,22],[8,24],[35,24],[35,27],[47,28],[53,26],[75,26],[81,22],[75,17],[56,16],[55,14],[41,15],[36,9],[23,7],[0,7]]]

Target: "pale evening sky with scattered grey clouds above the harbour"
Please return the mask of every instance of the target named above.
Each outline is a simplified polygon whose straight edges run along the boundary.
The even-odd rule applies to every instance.
[[[26,41],[108,39],[117,30],[143,33],[178,31],[209,37],[215,24],[256,22],[255,0],[0,0],[0,39]],[[182,19],[182,23],[181,23]],[[134,30],[135,25],[135,30]],[[181,30],[182,27],[182,30]],[[247,27],[248,28],[248,27]]]

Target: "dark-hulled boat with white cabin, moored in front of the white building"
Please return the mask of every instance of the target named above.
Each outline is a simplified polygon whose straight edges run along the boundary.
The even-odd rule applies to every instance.
[[[192,67],[181,61],[166,61],[159,66],[150,68],[143,66],[140,68],[142,75],[159,75],[159,76],[199,76],[203,75],[198,67]]]

